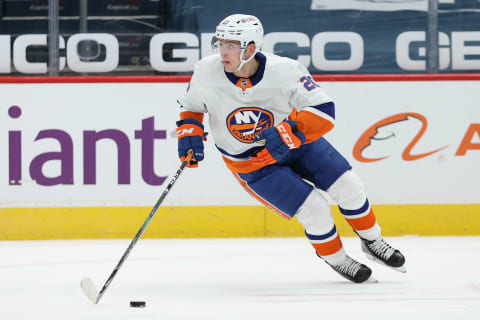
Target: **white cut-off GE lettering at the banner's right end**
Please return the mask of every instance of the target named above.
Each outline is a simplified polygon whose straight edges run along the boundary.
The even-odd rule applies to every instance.
[[[395,53],[397,64],[404,70],[427,69],[427,43],[425,31],[408,31],[400,33],[396,40]],[[452,32],[450,37],[438,33],[438,57],[440,70],[447,69],[451,64],[452,70],[480,69],[480,32]],[[412,57],[411,50],[418,47],[417,57]]]

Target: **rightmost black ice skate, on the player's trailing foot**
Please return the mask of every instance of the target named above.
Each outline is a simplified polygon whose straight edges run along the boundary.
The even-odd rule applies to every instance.
[[[372,241],[362,238],[360,240],[362,241],[362,251],[365,252],[367,258],[396,271],[407,272],[403,254],[392,248],[383,238]]]

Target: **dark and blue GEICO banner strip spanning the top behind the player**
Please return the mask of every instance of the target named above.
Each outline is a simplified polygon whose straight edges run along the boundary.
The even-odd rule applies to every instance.
[[[62,1],[60,71],[191,74],[212,53],[216,25],[245,13],[262,21],[264,51],[297,59],[313,74],[427,73],[429,1],[88,1],[88,36],[77,35],[78,3]],[[46,73],[47,1],[0,4],[0,73]],[[438,0],[437,20],[439,72],[478,72],[480,1]]]

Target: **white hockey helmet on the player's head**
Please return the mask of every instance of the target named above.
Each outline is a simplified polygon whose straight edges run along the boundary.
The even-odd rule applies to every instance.
[[[253,59],[263,41],[263,27],[260,20],[248,14],[232,14],[223,19],[215,30],[215,36],[212,38],[212,47],[218,50],[220,40],[240,41],[240,70],[245,63]],[[255,43],[255,53],[247,60],[243,60],[245,48],[251,43]]]

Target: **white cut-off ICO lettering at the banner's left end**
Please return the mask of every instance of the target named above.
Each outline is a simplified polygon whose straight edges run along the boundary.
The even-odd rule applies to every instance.
[[[89,41],[100,50],[105,47],[105,60],[86,61],[79,54],[79,45]],[[0,73],[11,72],[12,53],[10,52],[10,35],[0,35]],[[13,42],[13,65],[21,73],[47,73],[47,62],[30,62],[27,51],[32,46],[47,46],[47,35],[25,34],[18,36]],[[79,33],[68,38],[66,43],[66,57],[60,57],[60,70],[65,65],[74,72],[110,72],[117,68],[119,59],[119,45],[115,36],[107,33]],[[59,48],[65,49],[65,40],[59,37]]]

